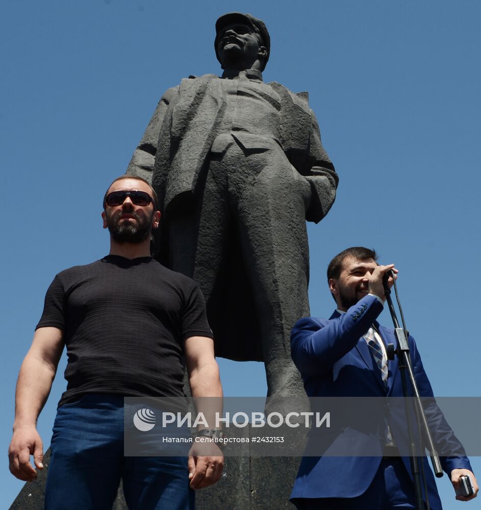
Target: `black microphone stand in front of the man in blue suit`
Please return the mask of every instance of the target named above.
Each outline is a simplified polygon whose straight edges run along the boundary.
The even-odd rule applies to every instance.
[[[394,306],[391,299],[391,289],[388,286],[388,277],[389,274],[392,274],[394,281],[394,290],[396,292],[397,303],[399,306],[399,311],[402,319],[402,328],[399,327],[399,322],[397,320],[396,311],[394,310]],[[439,461],[439,455],[434,447],[433,437],[431,436],[431,431],[429,431],[429,427],[427,425],[426,415],[424,413],[424,409],[421,402],[421,396],[419,394],[419,389],[416,384],[416,379],[414,376],[413,366],[411,364],[411,358],[409,356],[409,345],[408,345],[408,330],[406,328],[406,324],[404,323],[404,317],[402,315],[401,305],[399,303],[399,297],[397,295],[396,281],[394,278],[394,273],[392,270],[387,271],[385,277],[383,278],[384,285],[384,293],[386,295],[386,301],[388,303],[389,312],[391,313],[391,318],[394,324],[394,332],[397,339],[397,349],[394,349],[393,344],[389,344],[387,346],[387,355],[389,360],[394,360],[394,354],[397,355],[399,372],[401,374],[402,381],[402,393],[404,396],[404,406],[406,407],[406,417],[407,417],[407,425],[408,425],[408,437],[409,444],[411,449],[411,455],[409,457],[411,463],[411,472],[413,473],[413,481],[414,481],[414,489],[416,493],[416,507],[417,510],[423,510],[424,503],[422,500],[422,491],[421,491],[421,476],[419,471],[419,455],[416,447],[416,443],[414,441],[413,428],[411,424],[411,412],[409,409],[408,402],[408,380],[411,381],[411,387],[413,388],[414,395],[414,405],[416,410],[416,415],[418,418],[418,426],[422,425],[422,428],[425,431],[426,439],[427,439],[427,447],[429,449],[429,453],[431,456],[431,462],[433,464],[433,470],[435,475],[440,478],[443,476],[443,470],[441,468],[441,463]],[[421,423],[419,423],[421,422]],[[419,430],[421,433],[421,430]],[[417,461],[417,462],[416,462]],[[427,501],[427,491],[426,491],[426,501]],[[429,508],[429,503],[428,508]]]

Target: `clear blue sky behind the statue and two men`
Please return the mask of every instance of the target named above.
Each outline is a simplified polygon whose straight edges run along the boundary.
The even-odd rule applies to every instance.
[[[124,173],[162,93],[190,74],[220,73],[214,22],[234,10],[265,20],[264,79],[309,91],[340,177],[332,211],[309,225],[312,315],[333,310],[325,268],[334,254],[373,246],[400,270],[435,394],[480,396],[479,3],[9,1],[0,20],[5,452],[46,288],[60,270],[107,253],[106,187]],[[261,364],[220,366],[226,395],[265,394]],[[39,419],[45,447],[64,367]],[[2,506],[21,487],[5,455]],[[445,508],[460,506],[446,476],[439,487]]]

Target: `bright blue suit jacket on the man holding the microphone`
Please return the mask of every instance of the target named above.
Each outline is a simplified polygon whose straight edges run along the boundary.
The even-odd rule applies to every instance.
[[[402,397],[397,359],[388,362],[386,390],[381,372],[363,338],[371,324],[375,324],[385,344],[397,344],[394,331],[376,322],[382,310],[383,305],[374,296],[368,295],[345,314],[336,311],[330,319],[307,317],[297,321],[291,335],[292,359],[302,375],[309,397]],[[432,397],[433,390],[411,336],[408,343],[419,392],[422,397]],[[425,412],[428,423],[432,425],[435,443],[459,445],[434,399]],[[407,441],[405,422],[396,421],[391,416],[390,427],[397,444]],[[359,496],[366,491],[382,460],[382,451],[387,442],[386,428],[360,428],[324,431],[325,454],[302,458],[291,498],[345,498]],[[341,443],[362,444],[364,451],[369,448],[377,456],[330,456],[328,450],[339,451]],[[309,451],[309,448],[308,442],[306,450]],[[409,457],[402,460],[411,473]],[[434,476],[425,457],[423,462],[429,503],[433,508],[441,508]],[[441,464],[448,474],[455,468],[471,470],[465,456],[441,457]]]

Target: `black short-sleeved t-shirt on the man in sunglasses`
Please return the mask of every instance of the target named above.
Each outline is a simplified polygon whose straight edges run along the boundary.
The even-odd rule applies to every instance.
[[[59,273],[37,328],[62,329],[67,391],[182,396],[183,341],[212,338],[197,284],[150,257],[108,255]]]

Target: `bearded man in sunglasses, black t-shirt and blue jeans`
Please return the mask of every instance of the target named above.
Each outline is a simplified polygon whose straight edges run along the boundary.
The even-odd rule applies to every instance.
[[[10,471],[35,479],[30,455],[43,469],[36,421],[65,345],[67,389],[54,424],[45,508],[110,510],[122,479],[129,507],[191,509],[192,489],[220,478],[220,450],[202,456],[194,446],[188,461],[124,457],[123,397],[182,397],[184,358],[192,396],[222,396],[204,299],[194,281],[150,257],[160,212],[146,181],[116,179],[102,218],[109,255],[60,272],[47,291],[18,376]]]

